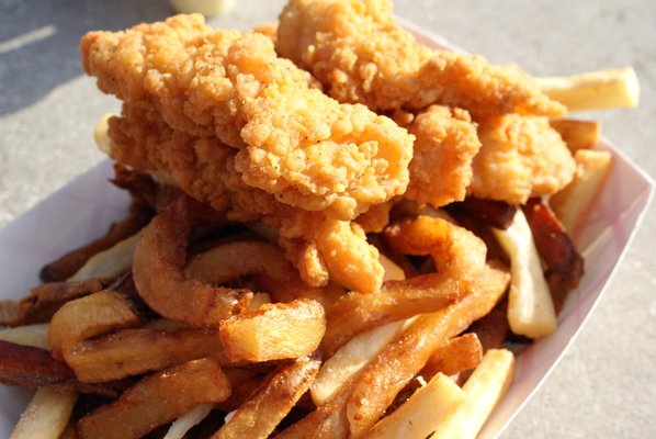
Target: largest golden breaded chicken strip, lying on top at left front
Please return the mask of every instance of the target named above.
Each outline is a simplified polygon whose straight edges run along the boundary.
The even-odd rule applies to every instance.
[[[155,109],[179,133],[236,148],[244,184],[281,203],[349,221],[407,187],[412,136],[310,87],[307,72],[279,58],[262,34],[177,15],[91,32],[80,49],[102,91]]]

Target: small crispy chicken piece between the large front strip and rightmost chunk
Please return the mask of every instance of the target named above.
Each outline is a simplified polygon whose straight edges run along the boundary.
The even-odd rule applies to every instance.
[[[405,198],[440,207],[464,200],[472,160],[480,149],[476,125],[460,109],[431,105],[410,125],[416,137]]]

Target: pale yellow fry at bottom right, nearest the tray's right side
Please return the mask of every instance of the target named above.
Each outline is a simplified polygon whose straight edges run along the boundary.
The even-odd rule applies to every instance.
[[[490,349],[463,386],[466,402],[440,424],[430,439],[475,439],[514,373],[514,357],[506,349]]]

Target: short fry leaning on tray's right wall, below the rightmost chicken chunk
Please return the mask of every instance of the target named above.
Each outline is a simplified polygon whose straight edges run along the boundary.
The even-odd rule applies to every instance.
[[[581,149],[576,151],[574,159],[577,166],[574,179],[550,200],[556,216],[570,233],[576,230],[612,167],[609,151]]]

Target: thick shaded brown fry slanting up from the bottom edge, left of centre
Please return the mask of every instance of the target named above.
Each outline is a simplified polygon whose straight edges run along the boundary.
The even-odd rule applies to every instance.
[[[190,361],[143,379],[115,402],[81,418],[78,432],[80,439],[137,439],[199,404],[220,403],[229,395],[217,361]]]

